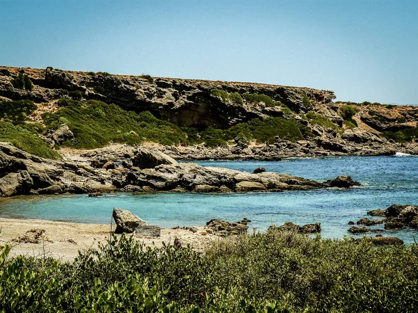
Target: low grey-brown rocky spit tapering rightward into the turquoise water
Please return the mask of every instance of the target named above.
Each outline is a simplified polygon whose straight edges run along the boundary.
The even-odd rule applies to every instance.
[[[144,147],[118,150],[117,154],[88,151],[83,157],[66,161],[42,159],[9,143],[0,143],[0,195],[98,195],[114,191],[245,193],[359,186],[344,175],[316,182],[263,170],[248,173],[178,163],[167,154]]]

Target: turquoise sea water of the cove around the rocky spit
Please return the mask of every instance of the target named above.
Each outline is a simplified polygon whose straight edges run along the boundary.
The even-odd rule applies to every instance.
[[[320,222],[322,236],[349,235],[348,221],[366,217],[370,209],[418,203],[418,157],[337,157],[288,159],[286,161],[202,161],[203,166],[222,166],[252,172],[258,166],[268,171],[309,179],[326,180],[351,175],[364,186],[350,190],[288,191],[282,193],[208,194],[111,194],[33,196],[3,199],[0,216],[40,218],[77,223],[110,223],[113,207],[129,209],[150,224],[161,227],[204,225],[210,218],[230,221],[244,217],[251,227],[265,230],[272,223]],[[378,228],[382,226],[378,226]],[[386,232],[410,243],[415,230]],[[417,236],[418,237],[418,236]]]

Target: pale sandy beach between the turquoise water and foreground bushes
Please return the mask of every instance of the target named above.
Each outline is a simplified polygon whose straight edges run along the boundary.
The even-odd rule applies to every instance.
[[[110,232],[110,224],[66,223],[15,218],[0,218],[0,227],[0,245],[10,244],[13,246],[10,256],[54,257],[61,261],[72,261],[77,257],[79,250],[98,248],[99,243],[106,243]],[[113,229],[114,227],[115,225],[113,225]],[[33,229],[45,230],[44,239],[39,243],[14,241],[18,236]],[[133,238],[144,243],[145,246],[161,247],[163,242],[173,244],[177,237],[182,246],[189,243],[197,251],[202,251],[206,245],[219,240],[218,236],[206,233],[206,227],[195,227],[195,229],[197,232],[162,229],[160,238],[148,239],[141,236],[133,236]]]

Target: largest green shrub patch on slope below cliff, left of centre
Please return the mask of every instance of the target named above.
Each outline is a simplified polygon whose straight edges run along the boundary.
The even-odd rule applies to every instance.
[[[179,127],[158,120],[149,112],[125,111],[114,104],[94,100],[83,103],[61,99],[59,105],[61,109],[45,113],[42,117],[49,129],[56,129],[63,123],[70,127],[75,138],[65,141],[65,146],[91,149],[111,142],[130,145],[144,141],[165,145],[189,143]]]

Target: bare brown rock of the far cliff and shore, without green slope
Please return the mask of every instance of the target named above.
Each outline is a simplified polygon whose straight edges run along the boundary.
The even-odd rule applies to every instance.
[[[31,79],[31,90],[13,85],[13,80],[20,73]],[[221,90],[222,93],[214,93],[214,90]],[[231,98],[227,98],[228,95]],[[272,103],[263,98],[251,101],[245,95],[261,95]],[[261,146],[251,146],[238,139],[227,148],[219,148],[224,149],[223,152],[217,152],[218,148],[202,151],[199,147],[190,147],[187,152],[168,148],[171,149],[169,153],[178,158],[183,155],[185,159],[199,159],[197,154],[205,153],[208,157],[277,159],[286,156],[418,152],[415,144],[418,107],[414,106],[356,104],[353,114],[347,116],[341,113],[341,107],[347,104],[333,102],[335,95],[330,90],[73,72],[52,67],[45,70],[0,67],[0,100],[32,100],[38,105],[31,117],[33,120],[42,122],[42,113],[58,110],[57,102],[61,98],[82,102],[97,99],[130,111],[150,111],[156,118],[180,127],[194,127],[198,131],[208,127],[229,129],[255,118],[281,117],[295,120],[306,132],[306,141],[284,142],[283,138],[277,138],[276,143],[263,143]]]

